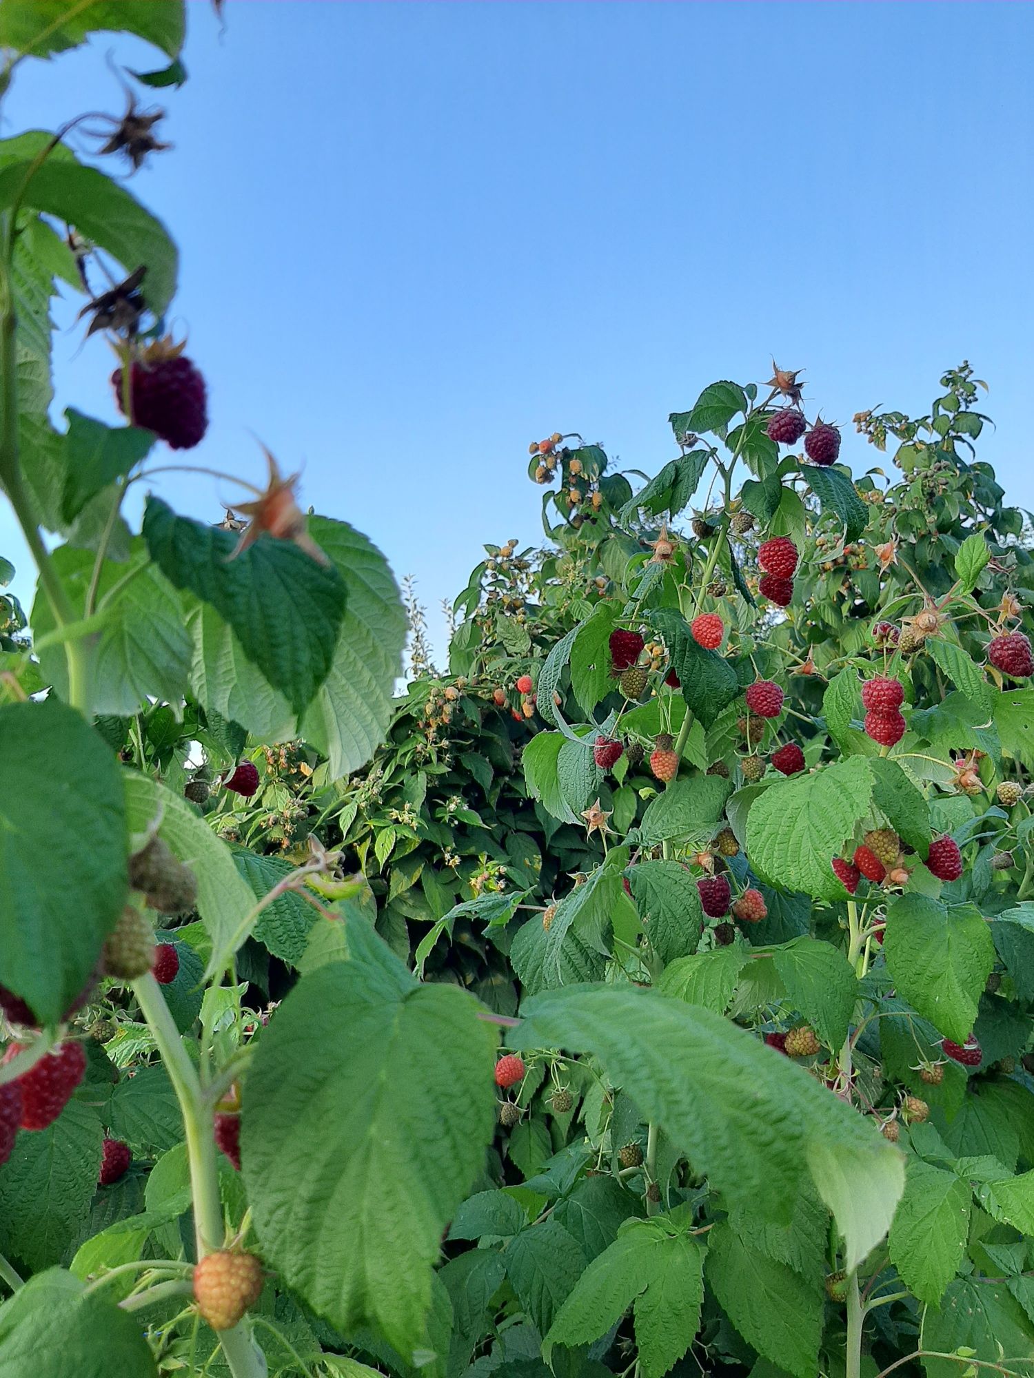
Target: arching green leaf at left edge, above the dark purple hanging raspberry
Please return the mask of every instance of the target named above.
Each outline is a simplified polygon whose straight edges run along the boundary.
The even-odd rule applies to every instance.
[[[26,4],[25,8],[36,10],[37,6]],[[0,7],[0,33],[6,12],[4,4]],[[26,152],[29,141],[37,141],[36,152],[52,142],[50,134],[36,130],[19,135],[19,139],[22,142],[17,147]],[[84,238],[112,254],[127,273],[146,266],[141,292],[154,314],[161,316],[176,289],[178,269],[176,247],[161,220],[103,172],[83,167],[63,143],[57,145],[33,171],[34,152],[11,158],[8,149],[12,142],[0,143],[0,209],[11,209],[21,198],[23,205],[74,225]]]

